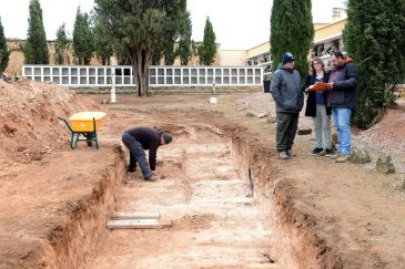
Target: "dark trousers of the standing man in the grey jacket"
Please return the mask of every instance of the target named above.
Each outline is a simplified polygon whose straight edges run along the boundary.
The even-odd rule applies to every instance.
[[[276,113],[276,147],[277,152],[285,152],[293,147],[296,130],[298,127],[298,113]]]

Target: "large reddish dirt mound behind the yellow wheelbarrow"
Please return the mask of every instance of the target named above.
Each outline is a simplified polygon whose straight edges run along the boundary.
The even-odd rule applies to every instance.
[[[58,116],[97,108],[93,101],[70,90],[28,80],[0,80],[0,156],[18,163],[40,161],[69,139]]]

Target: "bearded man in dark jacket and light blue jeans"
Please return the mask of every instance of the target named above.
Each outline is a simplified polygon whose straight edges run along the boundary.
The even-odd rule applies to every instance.
[[[351,116],[357,104],[358,69],[356,64],[347,62],[340,51],[331,55],[331,62],[334,72],[330,77],[330,105],[337,133],[337,154],[331,158],[336,159],[336,163],[344,163],[352,154]]]

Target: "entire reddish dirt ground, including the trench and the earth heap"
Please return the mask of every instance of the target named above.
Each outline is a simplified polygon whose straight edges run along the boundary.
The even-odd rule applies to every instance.
[[[216,105],[202,95],[118,95],[101,105],[109,96],[27,81],[0,90],[0,268],[405,267],[403,106],[355,135],[373,162],[354,165],[311,156],[313,135],[279,159],[274,123],[254,116],[273,116],[265,94],[220,95]],[[81,110],[108,113],[98,151],[71,151],[55,120]],[[123,173],[120,138],[136,125],[174,134],[159,149],[156,183]],[[375,172],[381,151],[396,174]],[[253,198],[244,197],[247,152]],[[113,210],[159,211],[166,226],[107,230]]]

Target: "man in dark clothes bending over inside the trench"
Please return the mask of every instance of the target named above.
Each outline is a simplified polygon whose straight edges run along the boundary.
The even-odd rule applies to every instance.
[[[130,149],[128,172],[135,172],[138,163],[145,180],[158,180],[158,175],[154,173],[158,148],[161,145],[168,145],[172,139],[173,136],[171,134],[159,132],[154,128],[134,127],[125,130],[122,135],[122,142]],[[149,149],[149,164],[143,149]]]

